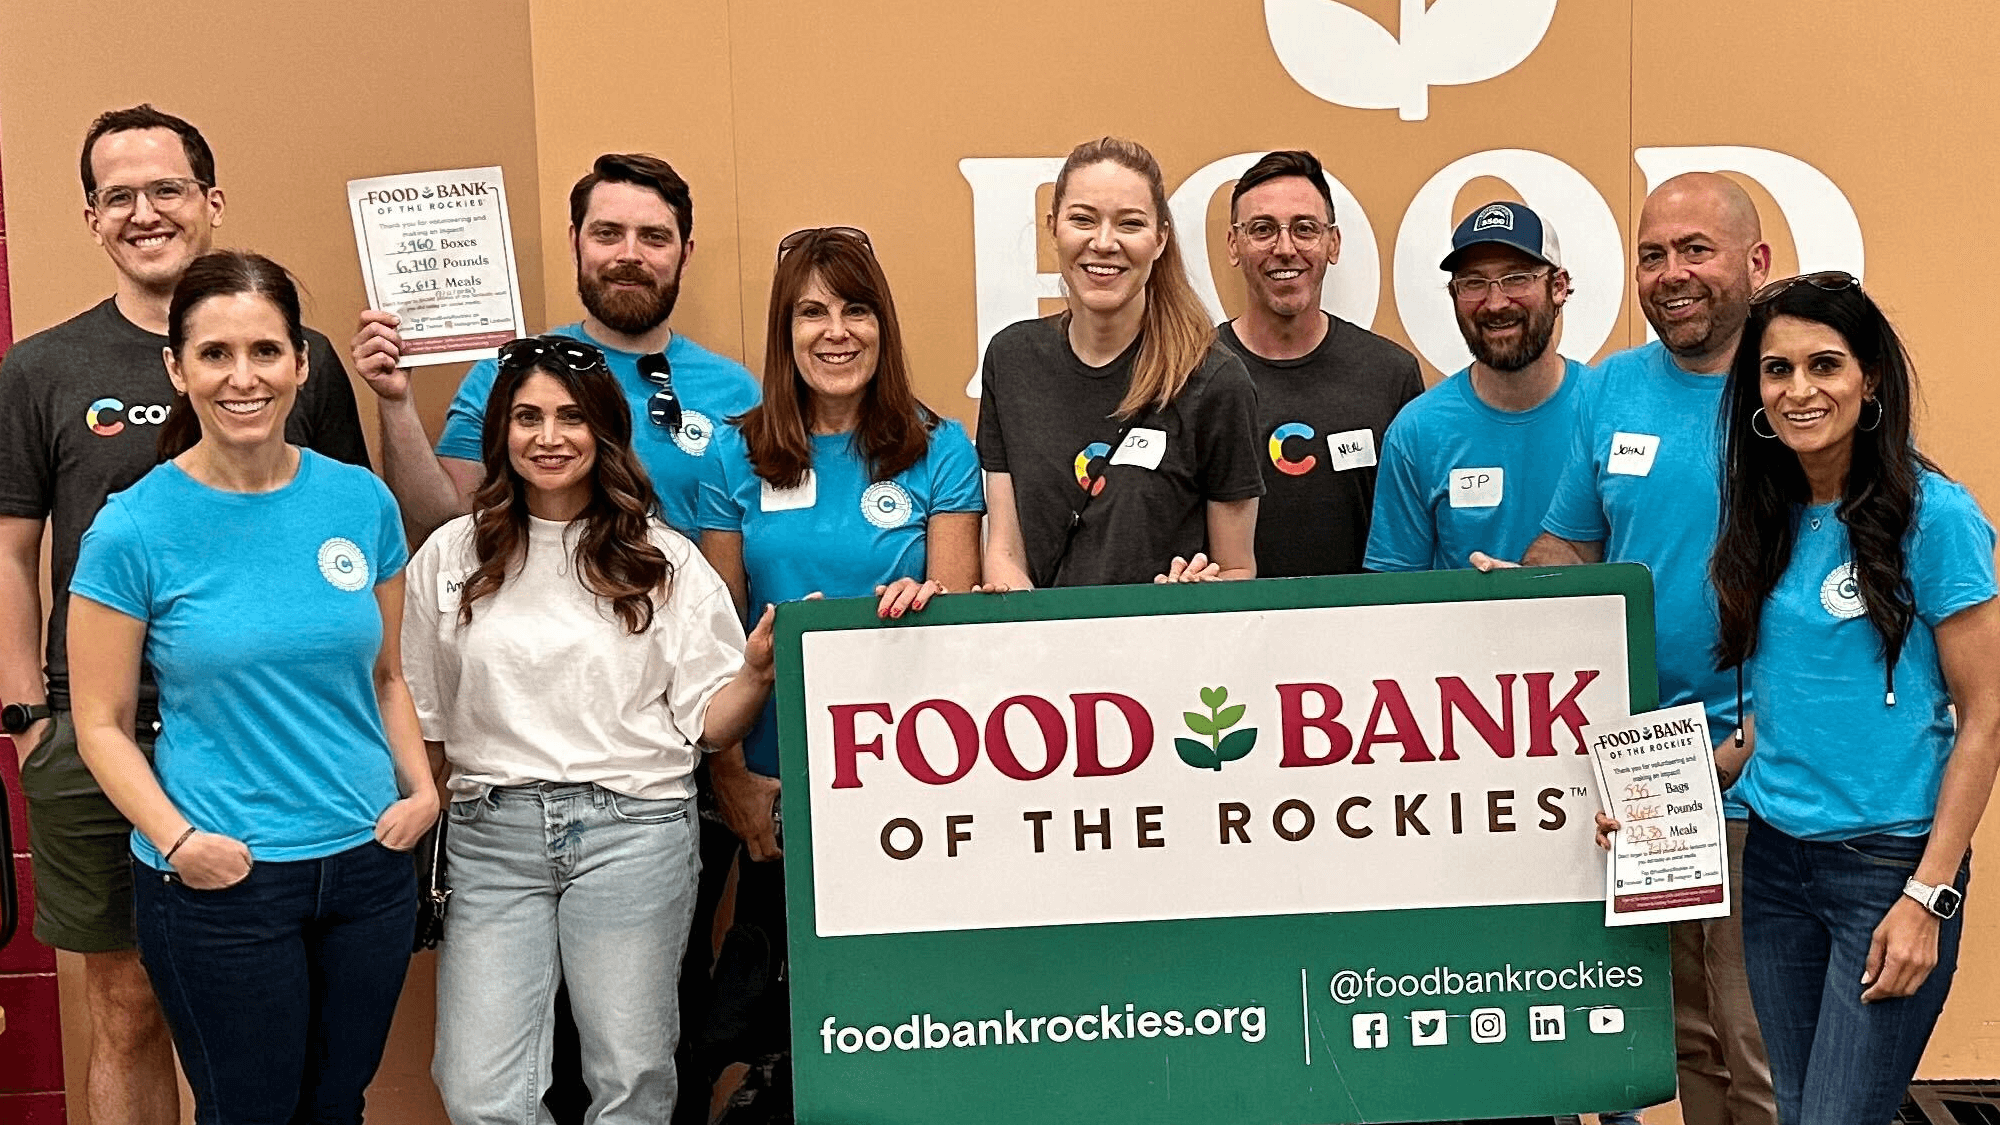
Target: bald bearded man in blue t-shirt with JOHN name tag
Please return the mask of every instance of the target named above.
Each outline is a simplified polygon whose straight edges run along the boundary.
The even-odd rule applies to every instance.
[[[1526,565],[1644,562],[1654,583],[1660,707],[1702,703],[1722,783],[1746,751],[1736,677],[1718,673],[1708,554],[1716,544],[1722,384],[1770,270],[1756,204],[1734,180],[1660,184],[1638,220],[1638,304],[1660,336],[1598,364],[1576,444]],[[1730,817],[1730,901],[1742,903],[1748,809]],[[1772,1125],[1770,1063],[1744,979],[1742,913],[1674,925],[1674,1033],[1688,1125]]]

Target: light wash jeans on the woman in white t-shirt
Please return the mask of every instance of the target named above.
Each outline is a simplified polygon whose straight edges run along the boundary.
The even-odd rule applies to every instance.
[[[680,957],[700,873],[692,801],[522,785],[454,801],[430,1075],[456,1125],[548,1125],[556,983],[586,1125],[668,1121]]]

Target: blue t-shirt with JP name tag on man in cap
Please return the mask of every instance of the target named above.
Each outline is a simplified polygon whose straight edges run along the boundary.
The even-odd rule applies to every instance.
[[[1382,438],[1370,571],[1458,571],[1474,550],[1520,558],[1542,530],[1590,368],[1566,360],[1562,386],[1530,410],[1496,410],[1472,368],[1396,414]]]

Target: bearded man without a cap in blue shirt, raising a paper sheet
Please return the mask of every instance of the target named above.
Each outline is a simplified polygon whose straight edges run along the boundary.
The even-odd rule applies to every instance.
[[[708,438],[718,422],[758,400],[758,384],[742,364],[668,326],[692,256],[694,200],[666,160],[604,154],[570,188],[570,258],[584,320],[552,332],[596,344],[610,360],[632,406],[632,450],[660,492],[660,514],[690,536],[698,534],[694,500]],[[466,372],[432,452],[410,396],[410,370],[396,366],[396,316],[362,312],[352,354],[382,398],[382,476],[402,504],[414,546],[470,510],[486,472],[480,426],[498,368],[484,360]]]

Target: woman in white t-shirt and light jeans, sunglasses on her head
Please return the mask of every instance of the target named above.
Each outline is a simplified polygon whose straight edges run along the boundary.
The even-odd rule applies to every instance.
[[[472,514],[410,560],[404,665],[450,765],[432,1077],[458,1125],[536,1117],[558,983],[592,1117],[666,1121],[694,909],[692,771],[770,693],[722,579],[662,524],[602,352],[514,340]]]

